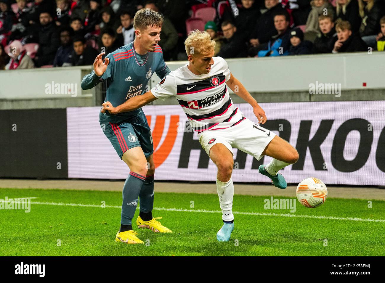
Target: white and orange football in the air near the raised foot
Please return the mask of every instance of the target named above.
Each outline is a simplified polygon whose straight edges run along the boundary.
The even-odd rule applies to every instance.
[[[326,185],[318,178],[306,178],[298,184],[297,199],[307,208],[317,208],[325,203],[328,197]]]

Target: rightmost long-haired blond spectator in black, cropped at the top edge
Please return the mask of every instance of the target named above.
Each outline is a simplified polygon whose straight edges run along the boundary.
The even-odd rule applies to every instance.
[[[380,31],[382,11],[375,0],[358,0],[361,17],[360,35],[371,47],[377,46],[376,37]]]

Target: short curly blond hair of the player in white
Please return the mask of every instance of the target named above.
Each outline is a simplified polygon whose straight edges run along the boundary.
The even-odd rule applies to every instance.
[[[208,32],[193,30],[184,41],[186,54],[207,54],[214,50],[216,42],[211,39]]]

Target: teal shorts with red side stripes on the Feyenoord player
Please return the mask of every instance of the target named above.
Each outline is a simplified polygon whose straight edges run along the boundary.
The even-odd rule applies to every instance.
[[[124,152],[137,146],[142,147],[146,158],[154,153],[151,129],[143,111],[116,123],[110,121],[110,119],[99,120],[102,131],[121,159]]]

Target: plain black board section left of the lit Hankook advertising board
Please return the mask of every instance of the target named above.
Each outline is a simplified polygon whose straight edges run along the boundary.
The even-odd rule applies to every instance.
[[[0,111],[1,178],[68,178],[66,109]]]

